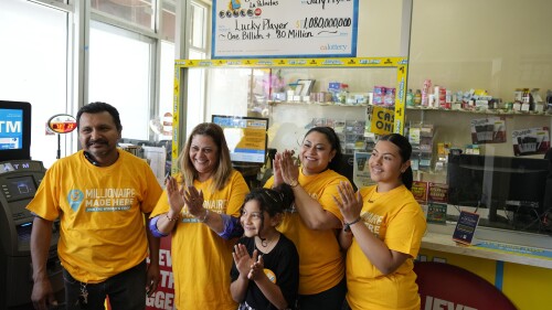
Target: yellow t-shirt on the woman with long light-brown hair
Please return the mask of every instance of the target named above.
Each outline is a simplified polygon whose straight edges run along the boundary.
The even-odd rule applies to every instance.
[[[203,206],[212,213],[238,217],[245,195],[250,192],[242,174],[233,171],[225,188],[214,193],[210,190],[211,183],[211,179],[193,182],[194,188],[203,192]],[[169,202],[164,191],[151,217],[168,211]],[[235,240],[225,240],[208,225],[198,222],[187,206],[180,218],[171,234],[176,308],[237,309],[237,303],[230,293],[232,247]]]

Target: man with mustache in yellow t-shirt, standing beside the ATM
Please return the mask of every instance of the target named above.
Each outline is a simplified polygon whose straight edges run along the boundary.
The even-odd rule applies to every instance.
[[[26,209],[31,233],[33,291],[38,310],[57,301],[46,274],[52,223],[60,220],[57,255],[63,266],[66,309],[146,308],[159,282],[159,239],[145,218],[161,195],[146,161],[117,148],[123,126],[105,103],[76,115],[82,150],[57,160]],[[146,258],[150,258],[149,267]]]

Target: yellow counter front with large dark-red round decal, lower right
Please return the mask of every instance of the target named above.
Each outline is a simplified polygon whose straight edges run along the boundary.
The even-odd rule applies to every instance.
[[[493,296],[498,298],[500,293],[506,296],[516,309],[550,309],[551,236],[478,226],[473,244],[461,245],[453,240],[455,226],[454,223],[427,225],[415,263],[415,266],[418,264],[415,271],[418,276],[422,304],[425,306],[422,309],[442,309],[437,306],[453,303],[473,309],[512,309],[496,308],[497,304],[479,308],[475,304]],[[435,268],[435,265],[427,265],[425,261],[445,264],[438,264],[442,267]],[[449,274],[458,275],[454,269],[461,269],[461,277],[450,280]],[[485,279],[495,289],[487,286],[485,289],[474,290],[473,286],[480,282],[480,279]],[[450,285],[452,282],[454,285]]]

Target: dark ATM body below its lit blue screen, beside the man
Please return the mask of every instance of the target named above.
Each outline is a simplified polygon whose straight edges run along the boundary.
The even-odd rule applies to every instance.
[[[25,206],[36,193],[44,173],[41,161],[0,161],[0,309],[32,309],[30,242],[33,215]],[[59,224],[54,223],[52,229],[47,272],[57,300],[64,300],[57,258]]]

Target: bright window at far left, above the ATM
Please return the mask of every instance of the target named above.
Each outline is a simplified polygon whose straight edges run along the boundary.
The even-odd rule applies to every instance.
[[[31,158],[45,167],[55,161],[57,150],[57,137],[46,135],[45,124],[68,110],[68,19],[67,12],[52,7],[0,1],[0,41],[10,45],[0,49],[0,99],[32,105]]]

